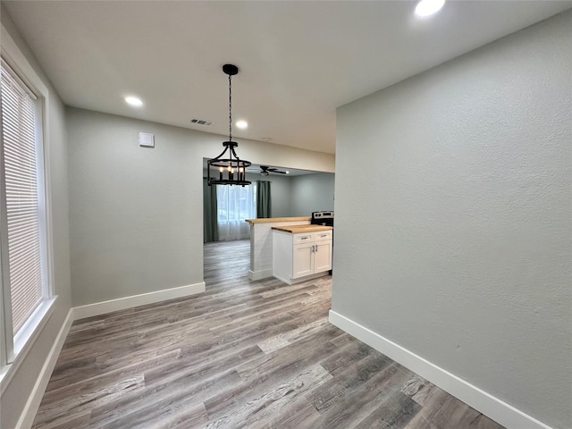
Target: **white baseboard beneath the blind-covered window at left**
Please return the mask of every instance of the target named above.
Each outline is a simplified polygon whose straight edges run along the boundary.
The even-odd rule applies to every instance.
[[[34,384],[34,388],[29,394],[28,401],[21,412],[20,420],[16,424],[16,429],[29,429],[34,424],[34,419],[38,413],[38,408],[44,397],[44,392],[46,391],[47,383],[50,381],[52,372],[55,368],[55,363],[57,358],[60,356],[60,351],[63,348],[63,342],[70,332],[71,324],[73,323],[73,311],[70,309],[68,315],[63,321],[60,332],[58,332],[57,337],[55,337],[54,345],[46,357],[44,366],[42,366],[41,371],[38,374],[38,380]]]

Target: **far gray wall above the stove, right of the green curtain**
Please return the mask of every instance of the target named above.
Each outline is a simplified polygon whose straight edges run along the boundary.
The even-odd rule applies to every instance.
[[[309,216],[333,210],[334,174],[316,172],[290,177],[290,215]]]

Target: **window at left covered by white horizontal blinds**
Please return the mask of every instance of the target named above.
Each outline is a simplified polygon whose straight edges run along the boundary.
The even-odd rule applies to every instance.
[[[0,236],[3,364],[10,364],[49,306],[42,104],[2,59]]]

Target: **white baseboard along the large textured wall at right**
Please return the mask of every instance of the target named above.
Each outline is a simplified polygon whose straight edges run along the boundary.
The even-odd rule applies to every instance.
[[[357,324],[333,310],[330,310],[330,323],[356,337],[357,340],[365,342],[368,346],[383,353],[385,356],[391,357],[400,365],[421,375],[426,380],[439,386],[443,391],[449,392],[459,400],[467,403],[467,405],[509,429],[551,429],[550,426],[544,425],[534,417],[526,415],[486,391],[482,391],[478,387],[467,383],[457,375],[450,374],[423,357],[417,356],[408,349],[404,349],[393,341],[383,338],[378,333],[367,329],[361,324]]]

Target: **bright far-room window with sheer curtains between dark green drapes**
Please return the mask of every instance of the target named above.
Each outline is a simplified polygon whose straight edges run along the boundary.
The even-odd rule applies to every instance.
[[[219,240],[241,240],[250,237],[245,219],[257,217],[257,184],[247,186],[216,185]]]

